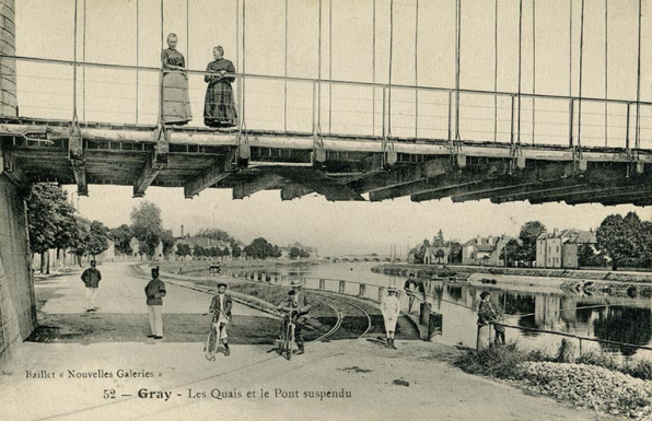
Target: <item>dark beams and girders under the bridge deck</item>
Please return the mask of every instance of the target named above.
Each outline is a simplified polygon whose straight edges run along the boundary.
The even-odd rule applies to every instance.
[[[313,163],[305,133],[248,133],[248,166],[235,160],[233,130],[173,128],[156,140],[152,126],[83,124],[71,144],[69,121],[0,119],[2,171],[14,183],[37,182],[182,187],[187,198],[206,188],[231,188],[234,198],[280,190],[282,200],[311,192],[327,200],[412,201],[452,198],[569,204],[652,203],[652,153],[631,162],[622,149],[586,149],[583,161],[562,147],[523,145],[519,160],[505,144],[463,142],[452,155],[445,141],[395,140],[396,163],[385,164],[377,138],[324,138],[323,162]],[[70,148],[82,153],[71,165]],[[163,159],[164,157],[164,159]]]

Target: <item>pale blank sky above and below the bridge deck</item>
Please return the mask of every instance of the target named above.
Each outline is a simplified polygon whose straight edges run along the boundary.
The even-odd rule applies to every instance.
[[[16,2],[18,55],[72,59],[73,0],[21,0]],[[242,7],[243,0],[240,0]],[[536,1],[536,92],[568,95],[569,83],[569,1]],[[160,1],[140,0],[139,58],[140,66],[158,67],[161,50]],[[190,1],[190,28],[186,36],[186,0],[165,0],[164,34],[178,35],[177,48],[188,60],[189,69],[203,70],[212,60],[211,49],[222,45],[226,58],[236,61],[235,0]],[[288,74],[317,77],[318,1],[289,0]],[[386,82],[388,73],[389,1],[376,0],[376,81]],[[498,90],[517,90],[519,2],[499,0],[499,62]],[[532,92],[532,0],[523,2],[522,90]],[[329,1],[323,0],[322,78],[372,81],[372,0],[333,0],[333,62],[328,62]],[[396,0],[394,16],[393,82],[415,83],[415,11],[416,0]],[[579,39],[581,0],[573,1],[573,95],[579,86]],[[463,0],[462,75],[463,89],[490,91],[493,89],[493,0]],[[133,0],[86,0],[85,60],[118,65],[136,65],[136,2]],[[609,1],[609,97],[636,100],[637,77],[637,0]],[[652,1],[643,1],[643,46],[641,67],[641,100],[652,101]],[[79,0],[78,59],[82,60],[83,0]],[[419,1],[418,78],[420,85],[454,86],[454,16],[455,2],[444,0]],[[240,26],[242,31],[242,22]],[[246,72],[283,74],[284,1],[246,0]],[[583,96],[604,96],[604,1],[585,0]],[[189,45],[189,48],[188,48]],[[241,45],[242,48],[242,39]],[[330,65],[330,66],[329,66]],[[236,65],[242,71],[242,52]],[[44,77],[50,79],[44,79]],[[19,103],[24,116],[70,118],[70,68],[20,63]],[[81,75],[80,75],[81,78]],[[85,116],[88,120],[132,122],[136,94],[135,72],[88,70],[85,85]],[[80,79],[81,80],[81,79]],[[140,122],[154,122],[158,74],[141,72],[139,90]],[[190,93],[195,121],[201,125],[206,84],[200,77],[190,78]],[[247,82],[247,126],[282,128],[282,84]],[[81,89],[80,89],[81,90]],[[310,130],[312,86],[291,86],[290,129]],[[322,127],[327,126],[327,87],[323,87]],[[371,130],[371,91],[334,89],[334,130]],[[376,135],[380,132],[381,109],[376,95]],[[414,132],[414,92],[393,93],[393,135]],[[352,100],[356,97],[357,100]],[[445,95],[420,94],[419,125],[421,136],[445,137],[447,121],[442,118],[447,106]],[[442,102],[441,104],[432,104]],[[463,105],[465,98],[463,97]],[[468,100],[474,107],[463,108],[462,118],[493,116],[492,98]],[[507,101],[507,100],[503,100]],[[504,103],[508,104],[507,102]],[[488,107],[490,105],[490,107]],[[502,103],[500,103],[502,105]],[[83,110],[78,100],[80,114]],[[480,106],[480,108],[478,108]],[[559,108],[561,106],[561,108]],[[307,108],[306,108],[307,107]],[[484,108],[482,108],[484,107]],[[523,101],[523,141],[532,141],[532,103]],[[568,104],[537,103],[537,133],[545,122],[551,122],[551,133],[564,135],[559,122],[568,119],[558,113]],[[584,117],[583,144],[603,144],[603,105],[585,109],[594,112]],[[552,113],[546,114],[547,108]],[[609,108],[610,114],[624,115],[624,108]],[[499,118],[509,120],[509,112]],[[537,112],[538,113],[538,112]],[[403,116],[400,116],[403,114]],[[351,117],[352,116],[352,117]],[[643,108],[642,147],[652,138],[650,109]],[[80,115],[81,117],[81,115]],[[621,117],[610,118],[609,145],[624,145]],[[620,119],[619,119],[620,118]],[[463,138],[470,139],[473,130],[490,129],[493,124],[462,126]],[[557,124],[557,128],[555,128]],[[592,128],[591,125],[594,127]],[[356,126],[361,125],[361,126]],[[645,127],[647,125],[647,127]],[[364,126],[364,127],[362,127]],[[620,128],[616,126],[621,126]],[[358,127],[358,128],[357,128]],[[467,132],[465,133],[465,129]],[[509,122],[499,131],[509,132]],[[633,131],[632,131],[633,132]],[[481,136],[486,136],[485,132]],[[480,135],[478,135],[480,136]],[[560,137],[537,141],[567,142]],[[650,143],[652,144],[652,142]],[[90,197],[81,198],[81,212],[98,219],[108,226],[129,222],[131,208],[142,199],[131,199],[131,188],[90,186]],[[72,188],[70,189],[72,191]],[[319,247],[322,254],[388,253],[396,243],[403,252],[423,237],[431,238],[439,229],[446,237],[466,241],[477,234],[516,234],[526,221],[540,220],[549,227],[595,227],[607,214],[627,212],[633,207],[605,208],[599,204],[569,207],[566,204],[529,206],[527,203],[492,204],[488,200],[452,203],[450,199],[411,203],[409,198],[382,203],[327,202],[308,195],[292,202],[281,202],[278,191],[264,191],[245,200],[231,200],[230,190],[210,189],[194,200],[183,199],[181,189],[148,189],[145,200],[159,204],[166,227],[179,233],[202,227],[224,229],[248,242],[265,236],[284,245],[300,241]],[[638,209],[642,218],[648,210]]]

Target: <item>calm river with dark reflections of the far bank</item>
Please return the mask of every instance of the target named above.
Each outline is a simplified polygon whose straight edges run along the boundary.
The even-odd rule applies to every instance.
[[[310,281],[346,280],[369,285],[403,286],[405,279],[375,273],[371,268],[379,262],[338,262],[305,266],[278,266],[266,273]],[[564,292],[560,280],[534,277],[493,277],[494,283],[484,283],[481,274],[468,281],[428,280],[424,282],[426,300],[432,309],[443,315],[442,336],[436,338],[449,344],[475,347],[477,308],[482,291],[491,293],[492,301],[504,313],[507,325],[572,334],[583,338],[597,338],[639,346],[652,346],[652,302],[642,297],[609,296],[606,293]],[[486,281],[485,281],[486,282]],[[333,283],[336,284],[335,282]],[[316,285],[316,283],[315,283]],[[337,286],[326,286],[335,289]],[[357,285],[347,285],[347,293],[356,294]],[[377,288],[376,288],[377,291]],[[373,293],[370,293],[374,296]],[[403,294],[403,309],[408,300]],[[416,306],[415,306],[416,307]],[[418,308],[417,308],[418,309]],[[415,308],[412,308],[412,312]],[[540,331],[516,328],[507,329],[508,340],[516,339],[522,348],[544,348],[556,352],[562,337]],[[579,352],[602,350],[624,356],[652,358],[652,352],[631,347],[597,343],[570,339]]]

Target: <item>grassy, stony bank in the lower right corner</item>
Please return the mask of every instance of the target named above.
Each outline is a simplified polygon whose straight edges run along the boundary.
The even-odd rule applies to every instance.
[[[556,354],[522,351],[515,342],[470,350],[454,364],[467,373],[511,381],[529,393],[551,396],[598,412],[632,419],[652,416],[652,363],[617,363],[604,353],[573,359],[570,342]]]

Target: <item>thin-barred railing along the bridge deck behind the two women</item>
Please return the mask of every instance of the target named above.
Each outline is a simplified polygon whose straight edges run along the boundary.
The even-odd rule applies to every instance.
[[[2,58],[8,60],[16,62],[21,117],[72,118],[73,62]],[[77,67],[80,121],[156,124],[160,69],[91,62]],[[652,149],[652,103],[478,90],[461,90],[457,95],[449,87],[233,75],[237,113],[247,130],[376,137],[379,141],[388,137]],[[203,126],[203,71],[187,71],[190,127]]]

